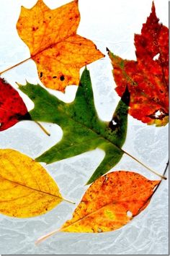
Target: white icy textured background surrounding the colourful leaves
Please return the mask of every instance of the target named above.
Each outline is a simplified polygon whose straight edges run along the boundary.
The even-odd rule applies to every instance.
[[[0,70],[4,70],[30,56],[27,46],[15,28],[20,7],[32,7],[35,0],[1,0],[0,8]],[[68,1],[46,0],[51,8]],[[135,59],[134,33],[140,33],[143,22],[151,12],[151,0],[79,0],[81,23],[78,33],[94,40],[106,54],[106,46],[122,58]],[[168,26],[168,0],[155,0],[156,12],[161,22]],[[115,93],[112,67],[108,57],[88,66],[94,89],[97,112],[101,119],[109,120],[119,101]],[[81,70],[82,72],[82,70]],[[37,84],[34,61],[2,75],[15,88],[15,82],[25,80]],[[63,101],[73,101],[76,86],[67,88],[66,94],[55,92]],[[23,95],[21,93],[21,95]],[[29,109],[33,104],[24,97]],[[0,133],[0,148],[16,150],[37,157],[61,140],[62,130],[57,125],[44,124],[51,136],[46,136],[37,124],[22,121]],[[129,116],[128,135],[124,150],[159,173],[163,173],[168,158],[168,126],[148,127]],[[79,204],[87,187],[84,186],[94,168],[104,157],[102,150],[93,150],[74,158],[46,166],[61,189],[63,197]],[[22,168],[22,166],[21,166]],[[148,179],[157,179],[147,169],[124,155],[114,170],[136,171]],[[58,229],[71,218],[76,205],[62,202],[49,213],[36,218],[18,219],[0,215],[0,253],[19,255],[166,255],[168,254],[168,181],[163,181],[143,213],[127,226],[105,234],[56,234],[39,246],[35,240]]]

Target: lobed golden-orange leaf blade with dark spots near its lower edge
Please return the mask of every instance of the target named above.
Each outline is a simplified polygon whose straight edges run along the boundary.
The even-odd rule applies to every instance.
[[[32,9],[22,7],[17,31],[48,88],[79,85],[79,69],[104,56],[91,40],[76,35],[79,22],[77,0],[53,10],[42,0]]]

